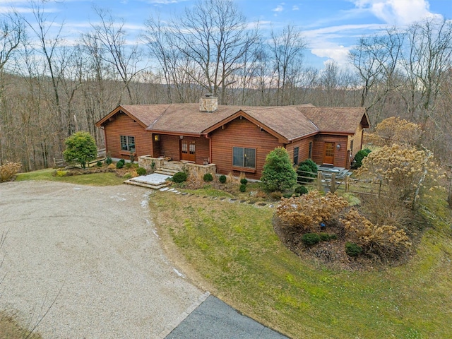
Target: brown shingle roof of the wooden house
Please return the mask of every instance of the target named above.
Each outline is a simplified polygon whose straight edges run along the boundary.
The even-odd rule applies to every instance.
[[[363,115],[366,115],[364,107],[218,106],[217,111],[208,113],[199,112],[198,104],[121,105],[97,124],[100,126],[101,121],[120,109],[148,126],[149,131],[193,134],[205,133],[242,111],[261,127],[271,129],[288,141],[319,131],[355,133]]]

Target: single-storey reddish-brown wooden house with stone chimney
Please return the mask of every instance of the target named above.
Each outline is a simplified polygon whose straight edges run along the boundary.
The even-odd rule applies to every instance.
[[[266,155],[285,147],[294,164],[350,167],[369,127],[364,107],[218,106],[206,95],[199,104],[120,105],[96,123],[112,157],[150,155],[216,172],[259,179]]]

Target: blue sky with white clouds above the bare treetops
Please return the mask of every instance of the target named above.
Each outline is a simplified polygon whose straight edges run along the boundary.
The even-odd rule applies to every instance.
[[[44,8],[55,23],[64,22],[68,40],[90,30],[97,18],[93,6],[124,19],[131,37],[144,30],[151,14],[170,18],[198,0],[48,0]],[[347,64],[347,53],[359,37],[394,25],[403,27],[426,18],[452,20],[451,0],[235,0],[249,23],[259,23],[263,35],[295,25],[307,42],[305,63],[319,69],[327,61]],[[11,7],[32,18],[28,0],[0,0],[0,13]]]

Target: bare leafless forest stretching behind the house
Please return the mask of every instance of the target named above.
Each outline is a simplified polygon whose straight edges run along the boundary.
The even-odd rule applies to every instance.
[[[157,14],[131,40],[121,18],[93,8],[90,31],[67,39],[64,23],[30,2],[33,20],[0,17],[0,165],[52,167],[64,140],[88,131],[119,104],[366,107],[371,125],[400,117],[420,126],[420,143],[452,164],[452,23],[427,19],[357,40],[349,66],[306,64],[307,40],[287,25],[269,36],[232,0],[200,0],[172,20]]]

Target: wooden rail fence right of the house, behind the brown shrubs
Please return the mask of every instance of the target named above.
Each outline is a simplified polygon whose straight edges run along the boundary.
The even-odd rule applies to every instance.
[[[345,191],[369,196],[384,196],[388,190],[388,186],[383,184],[381,179],[355,179],[348,175],[340,176],[336,173],[323,173],[321,171],[314,176],[311,172],[299,172],[298,182],[299,184],[314,186],[318,191],[331,191],[333,193]]]

